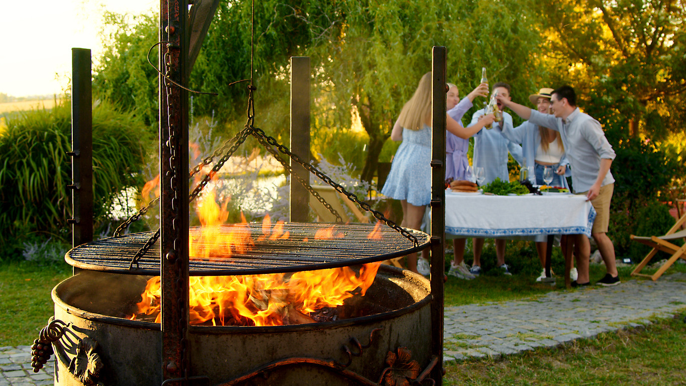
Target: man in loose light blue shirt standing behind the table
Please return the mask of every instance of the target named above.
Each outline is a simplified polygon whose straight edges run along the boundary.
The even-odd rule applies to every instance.
[[[493,85],[493,92],[497,91],[498,95],[504,98],[510,98],[510,85],[504,82],[497,82]],[[502,104],[498,102],[498,108],[502,111]],[[474,125],[485,114],[485,109],[478,110],[472,115],[472,120],[469,125]],[[474,167],[483,167],[486,181],[488,184],[493,182],[496,178],[503,181],[510,180],[510,173],[508,172],[508,152],[512,154],[512,158],[522,162],[521,146],[517,143],[508,141],[500,134],[503,128],[512,129],[512,116],[507,112],[503,112],[503,119],[499,122],[494,122],[490,129],[483,129],[474,136]],[[473,239],[474,247],[474,263],[470,272],[474,276],[481,273],[481,251],[484,248],[484,239]],[[504,274],[510,274],[508,266],[505,264],[505,243],[504,239],[495,239],[495,256],[497,258],[497,267],[501,269]]]

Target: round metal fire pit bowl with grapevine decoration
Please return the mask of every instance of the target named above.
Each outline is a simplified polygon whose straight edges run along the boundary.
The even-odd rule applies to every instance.
[[[56,385],[84,385],[78,369],[87,375],[91,367],[98,370],[91,381],[104,385],[161,382],[160,324],[120,317],[132,313],[146,280],[83,272],[53,289],[52,324],[61,330],[54,343]],[[381,265],[356,302],[373,315],[292,326],[191,326],[189,376],[204,385],[373,385],[403,363],[414,360],[419,371],[429,366],[426,278]],[[397,354],[394,366],[386,362],[389,352]]]

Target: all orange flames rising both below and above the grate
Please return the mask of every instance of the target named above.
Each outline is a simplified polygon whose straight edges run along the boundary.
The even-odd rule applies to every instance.
[[[147,186],[148,184],[146,184]],[[153,184],[151,184],[152,186]],[[150,190],[148,190],[150,191]],[[241,224],[224,225],[228,219],[228,199],[221,204],[213,191],[198,200],[196,212],[202,226],[191,234],[189,254],[193,259],[226,260],[255,246],[256,241],[289,238],[283,221],[272,224],[269,215],[262,223],[262,234],[252,239],[241,214]],[[220,228],[221,226],[221,228]],[[380,239],[381,221],[368,239]],[[344,237],[334,226],[322,228],[315,239]],[[303,240],[307,242],[307,239]],[[246,276],[191,276],[189,279],[189,316],[191,324],[235,326],[279,326],[316,322],[312,316],[327,307],[342,306],[359,292],[364,295],[372,285],[379,263],[362,265],[359,272],[350,267]],[[131,319],[161,322],[160,276],[150,278],[141,294],[138,311]]]

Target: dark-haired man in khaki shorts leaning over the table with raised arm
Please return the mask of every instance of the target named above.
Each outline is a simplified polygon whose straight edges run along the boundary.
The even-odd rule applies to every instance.
[[[615,246],[607,237],[610,221],[610,202],[615,179],[610,172],[615,152],[602,131],[600,122],[589,114],[580,112],[576,107],[576,93],[570,86],[562,86],[552,92],[550,98],[554,115],[541,114],[536,110],[516,104],[508,98],[499,98],[504,106],[519,117],[537,125],[560,132],[571,166],[572,188],[575,193],[586,195],[591,201],[597,216],[591,235],[598,244],[598,250],[605,262],[607,274],[597,284],[610,286],[619,284],[619,274],[615,264]],[[589,284],[589,255],[591,245],[583,234],[576,237],[579,245],[577,266],[579,276],[573,286]]]

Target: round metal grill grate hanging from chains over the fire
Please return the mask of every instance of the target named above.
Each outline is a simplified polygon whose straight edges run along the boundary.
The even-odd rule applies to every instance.
[[[315,239],[318,231],[331,227],[335,234],[342,234],[342,237]],[[206,228],[217,238],[235,232],[241,239],[249,232],[254,245],[241,253],[235,252],[228,243],[220,243],[226,252],[210,257],[190,256],[189,270],[191,276],[224,276],[327,269],[404,256],[426,248],[429,243],[429,235],[423,232],[409,230],[419,241],[419,245],[415,246],[410,239],[386,226],[377,230],[380,234],[378,239],[368,239],[373,229],[374,226],[370,224],[285,223],[283,232],[288,232],[289,238],[270,240],[260,237],[263,234],[262,224]],[[74,267],[91,271],[158,275],[160,250],[157,243],[129,269],[134,254],[152,233],[126,234],[79,245],[67,252],[65,260]],[[200,228],[191,227],[190,234],[191,242],[198,245],[195,240],[198,239]]]

